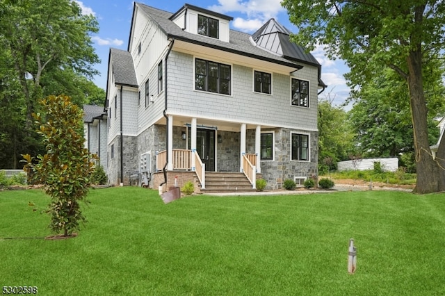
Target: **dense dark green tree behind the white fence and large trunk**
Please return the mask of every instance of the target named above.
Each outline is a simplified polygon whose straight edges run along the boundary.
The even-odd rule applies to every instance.
[[[443,88],[437,87],[439,89]],[[364,157],[399,157],[403,153],[414,152],[409,94],[406,82],[399,79],[394,71],[384,69],[362,88],[353,91],[351,96],[354,104],[349,112],[350,123],[359,143],[357,147]],[[442,95],[431,94],[428,108],[437,112],[444,110]],[[436,116],[435,112],[428,113],[430,143],[437,142],[439,135],[439,129],[435,128]]]

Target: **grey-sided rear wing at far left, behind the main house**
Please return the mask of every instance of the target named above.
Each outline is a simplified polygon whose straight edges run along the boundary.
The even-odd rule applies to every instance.
[[[107,170],[108,124],[104,107],[83,105],[83,131],[85,148],[99,156],[99,164]]]

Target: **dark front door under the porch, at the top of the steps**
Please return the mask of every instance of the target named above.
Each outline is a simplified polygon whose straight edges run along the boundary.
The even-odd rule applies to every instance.
[[[197,129],[196,151],[206,171],[215,172],[215,131],[213,129]]]

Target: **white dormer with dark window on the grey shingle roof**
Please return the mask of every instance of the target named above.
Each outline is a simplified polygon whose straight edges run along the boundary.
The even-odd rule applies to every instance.
[[[185,4],[170,20],[182,30],[229,42],[229,22],[233,17],[215,13],[211,10]]]

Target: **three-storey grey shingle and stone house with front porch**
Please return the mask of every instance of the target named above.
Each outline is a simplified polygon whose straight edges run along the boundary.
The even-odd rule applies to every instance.
[[[108,60],[110,183],[139,172],[163,190],[175,177],[240,190],[228,181],[238,172],[251,189],[259,177],[276,189],[317,174],[321,65],[275,19],[252,35],[231,21],[189,4],[168,13],[134,3],[128,49]]]

